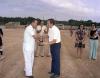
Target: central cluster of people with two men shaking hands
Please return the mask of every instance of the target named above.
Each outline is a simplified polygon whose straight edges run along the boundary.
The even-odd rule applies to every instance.
[[[45,38],[48,40],[45,40]],[[41,27],[40,19],[33,19],[32,23],[25,29],[23,55],[25,61],[24,72],[27,78],[34,78],[32,68],[34,65],[35,52],[37,56],[36,49],[38,48],[38,45],[41,47],[50,47],[50,54],[52,58],[51,70],[48,72],[48,74],[50,74],[50,78],[60,77],[61,34],[60,30],[57,28],[57,26],[55,26],[54,19],[48,19],[47,27]],[[42,52],[42,50],[40,50],[40,52]]]

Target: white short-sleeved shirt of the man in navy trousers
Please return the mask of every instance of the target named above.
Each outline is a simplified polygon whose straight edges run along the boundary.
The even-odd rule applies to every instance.
[[[54,25],[52,28],[49,28],[48,32],[49,42],[56,39],[56,43],[61,42],[60,30]]]

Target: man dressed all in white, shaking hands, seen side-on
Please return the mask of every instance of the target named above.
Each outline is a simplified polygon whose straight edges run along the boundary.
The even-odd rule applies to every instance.
[[[32,23],[26,27],[24,32],[23,54],[25,60],[25,76],[27,78],[34,78],[32,76],[32,68],[34,62],[34,49],[36,37],[37,20],[34,19]]]

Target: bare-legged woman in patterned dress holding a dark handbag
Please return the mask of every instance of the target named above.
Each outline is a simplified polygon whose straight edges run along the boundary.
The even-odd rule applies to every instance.
[[[75,47],[77,48],[77,57],[82,58],[83,48],[85,48],[85,30],[84,26],[80,25],[78,30],[75,33],[76,43]]]

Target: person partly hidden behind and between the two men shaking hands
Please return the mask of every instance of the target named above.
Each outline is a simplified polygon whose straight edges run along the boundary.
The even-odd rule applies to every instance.
[[[45,41],[48,41],[48,29],[47,27],[44,25],[43,21],[41,21],[40,19],[38,19],[38,26],[37,26],[37,34],[39,35],[39,39],[36,40],[37,42],[37,46],[36,46],[36,53],[35,56],[38,57],[39,55],[41,57],[44,57],[45,54],[46,56],[50,56],[50,53],[48,51],[49,46],[44,46],[42,43]]]

